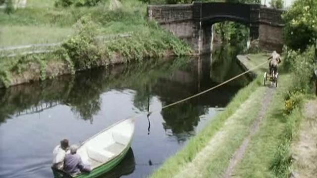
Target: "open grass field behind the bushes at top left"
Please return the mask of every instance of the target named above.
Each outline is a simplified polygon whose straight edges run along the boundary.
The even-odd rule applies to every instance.
[[[13,14],[0,10],[0,46],[51,43],[72,34],[73,25],[90,14],[100,24],[101,35],[148,31],[146,4],[123,1],[123,7],[110,10],[110,0],[95,7],[54,7],[54,0],[28,0],[24,9]]]

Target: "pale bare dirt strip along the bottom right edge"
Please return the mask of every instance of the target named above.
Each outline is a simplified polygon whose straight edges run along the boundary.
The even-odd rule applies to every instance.
[[[317,178],[317,99],[305,105],[299,140],[292,145],[292,178]]]

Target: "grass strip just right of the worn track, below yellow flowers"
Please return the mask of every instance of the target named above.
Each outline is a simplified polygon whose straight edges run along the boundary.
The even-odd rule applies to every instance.
[[[251,138],[245,157],[237,167],[235,175],[240,178],[276,177],[272,169],[276,150],[284,139],[287,120],[283,116],[284,92],[289,87],[290,75],[281,75],[279,87],[259,132]],[[282,148],[280,148],[282,151]]]

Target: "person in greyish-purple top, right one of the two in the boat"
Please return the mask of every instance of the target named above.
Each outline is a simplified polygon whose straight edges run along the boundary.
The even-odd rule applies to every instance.
[[[77,154],[77,145],[70,146],[70,153],[65,157],[64,171],[71,175],[80,174],[81,172],[91,172],[92,169],[89,165],[85,165]]]

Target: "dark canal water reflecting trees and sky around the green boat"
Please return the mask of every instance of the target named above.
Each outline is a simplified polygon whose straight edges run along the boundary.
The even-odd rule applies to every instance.
[[[137,118],[132,149],[102,178],[147,177],[204,129],[248,79],[149,118],[147,110],[240,73],[235,53],[222,48],[212,56],[151,59],[0,89],[0,178],[52,178],[52,151],[61,139],[79,143],[139,113],[144,115]]]

